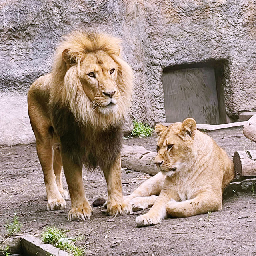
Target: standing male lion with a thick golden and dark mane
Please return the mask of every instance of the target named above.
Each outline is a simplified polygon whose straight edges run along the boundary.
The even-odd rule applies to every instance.
[[[132,213],[121,188],[122,123],[131,103],[132,68],[120,57],[120,40],[76,31],[60,42],[52,72],[28,90],[28,113],[47,193],[47,209],[66,208],[62,166],[71,198],[69,220],[92,214],[82,167],[101,170],[107,182],[106,214]]]

